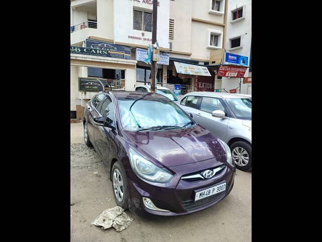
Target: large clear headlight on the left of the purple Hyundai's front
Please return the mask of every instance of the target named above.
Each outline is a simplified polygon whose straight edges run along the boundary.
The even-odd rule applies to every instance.
[[[129,148],[129,158],[135,174],[144,179],[154,181],[155,183],[168,183],[173,177],[172,174],[154,165],[132,148]]]

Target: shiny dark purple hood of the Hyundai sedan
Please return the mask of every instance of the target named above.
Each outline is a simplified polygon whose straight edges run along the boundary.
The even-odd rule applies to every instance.
[[[125,133],[136,151],[165,167],[225,155],[218,139],[200,125],[181,130]]]

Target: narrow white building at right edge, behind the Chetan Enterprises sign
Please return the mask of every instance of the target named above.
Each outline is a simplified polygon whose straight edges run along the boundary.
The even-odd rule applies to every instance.
[[[252,1],[229,0],[227,9],[226,52],[246,56],[249,66],[245,78],[222,77],[216,88],[225,90],[237,89],[237,93],[252,94]],[[245,83],[244,83],[245,82]]]

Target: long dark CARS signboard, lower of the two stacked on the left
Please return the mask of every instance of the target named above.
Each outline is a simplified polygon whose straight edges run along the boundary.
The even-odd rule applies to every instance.
[[[112,57],[118,59],[128,58],[124,56],[124,52],[120,51],[112,51],[107,49],[98,49],[98,48],[86,48],[86,47],[78,47],[78,46],[70,46],[71,54],[87,54],[87,55],[96,55],[96,56],[104,56],[104,57]]]

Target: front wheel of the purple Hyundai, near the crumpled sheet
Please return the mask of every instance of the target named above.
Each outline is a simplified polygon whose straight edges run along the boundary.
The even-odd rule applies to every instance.
[[[114,163],[111,174],[114,200],[118,206],[126,210],[128,209],[128,200],[130,194],[128,189],[127,177],[124,168],[119,161],[116,161]],[[119,183],[117,183],[117,180],[119,181]],[[122,184],[120,183],[120,181],[122,181]],[[122,193],[120,193],[120,191],[123,192],[123,195]]]

